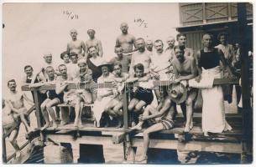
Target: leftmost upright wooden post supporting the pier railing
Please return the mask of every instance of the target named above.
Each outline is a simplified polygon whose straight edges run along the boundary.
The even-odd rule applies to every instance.
[[[42,117],[42,113],[41,113],[41,97],[39,94],[39,91],[37,89],[33,90],[33,94],[34,94],[34,105],[35,105],[35,115],[36,115],[36,119],[37,119],[37,126],[38,128],[42,127],[44,122],[43,122],[43,118]]]

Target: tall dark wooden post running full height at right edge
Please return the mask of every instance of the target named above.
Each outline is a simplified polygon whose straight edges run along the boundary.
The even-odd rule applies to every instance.
[[[250,85],[249,85],[249,59],[248,59],[248,36],[246,3],[238,3],[238,32],[240,39],[240,54],[242,61],[241,79],[242,79],[242,99],[243,99],[243,154],[248,153],[248,148],[252,146],[252,109],[250,103]],[[249,34],[252,35],[252,34]],[[245,163],[246,158],[242,159]]]

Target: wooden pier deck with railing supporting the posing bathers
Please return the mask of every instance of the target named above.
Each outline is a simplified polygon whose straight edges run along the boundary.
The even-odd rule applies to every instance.
[[[154,86],[166,86],[170,82],[154,82]],[[238,81],[228,79],[215,79],[214,84],[233,83],[238,84]],[[92,85],[81,83],[79,87],[75,84],[70,84],[68,89],[84,89]],[[95,86],[95,85],[93,85]],[[133,85],[126,84],[125,90]],[[104,87],[112,87],[112,84],[104,85]],[[123,107],[123,121],[124,127],[117,129],[112,127],[97,128],[94,126],[91,119],[83,122],[83,128],[76,129],[73,124],[66,124],[59,126],[56,129],[47,128],[40,131],[43,126],[43,119],[40,111],[40,97],[39,90],[55,89],[55,85],[42,86],[37,89],[29,89],[28,85],[22,87],[24,91],[33,91],[35,97],[35,112],[37,117],[38,128],[35,129],[34,134],[30,134],[29,138],[39,138],[41,141],[54,141],[57,144],[69,143],[71,144],[73,163],[78,163],[80,157],[81,144],[94,144],[94,145],[108,145],[123,148],[123,162],[133,163],[143,146],[143,131],[132,131],[128,129],[128,91],[125,91],[124,107]],[[91,105],[92,106],[92,105]],[[65,105],[60,105],[65,107]],[[160,132],[150,135],[149,148],[157,149],[176,149],[179,151],[206,151],[206,152],[220,152],[220,153],[234,153],[234,154],[249,154],[245,152],[244,141],[245,135],[243,134],[243,114],[226,114],[227,121],[233,127],[232,131],[222,134],[214,134],[211,137],[203,136],[201,131],[201,113],[195,113],[193,116],[194,128],[191,129],[189,134],[183,134],[182,116],[177,115],[175,119],[175,128],[170,130],[162,130]],[[6,137],[6,136],[4,136]],[[135,148],[137,148],[135,152]],[[3,149],[4,150],[4,149]],[[137,154],[137,155],[136,155]],[[8,157],[11,160],[12,157]],[[6,161],[6,162],[7,162]]]

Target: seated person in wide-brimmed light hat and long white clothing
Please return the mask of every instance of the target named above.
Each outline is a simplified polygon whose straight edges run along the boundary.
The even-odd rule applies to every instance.
[[[97,83],[99,83],[99,89],[97,89],[97,100],[94,103],[93,114],[95,117],[95,125],[97,127],[101,126],[100,120],[102,119],[102,114],[107,113],[106,106],[110,103],[112,99],[114,99],[118,91],[115,88],[102,88],[106,83],[113,83],[114,76],[110,73],[112,64],[107,62],[102,62],[98,68],[102,69],[102,76],[97,79]]]

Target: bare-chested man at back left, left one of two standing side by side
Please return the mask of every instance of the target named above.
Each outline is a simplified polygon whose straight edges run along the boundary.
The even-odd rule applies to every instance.
[[[72,40],[70,43],[67,43],[66,51],[68,53],[77,53],[79,59],[85,57],[86,45],[83,41],[77,39],[76,29],[71,29],[70,34],[71,34]],[[82,52],[82,51],[84,51],[84,52]]]

